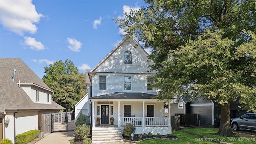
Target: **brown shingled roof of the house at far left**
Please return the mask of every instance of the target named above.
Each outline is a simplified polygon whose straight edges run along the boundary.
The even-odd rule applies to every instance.
[[[16,69],[15,80],[12,81],[13,70]],[[0,112],[4,110],[60,110],[59,104],[35,104],[26,92],[18,86],[18,82],[34,84],[52,90],[20,59],[0,58]]]

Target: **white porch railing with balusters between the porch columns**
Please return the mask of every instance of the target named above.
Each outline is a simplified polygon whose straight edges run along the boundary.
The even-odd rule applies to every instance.
[[[121,117],[120,124],[132,123],[134,126],[142,126],[144,120],[145,126],[168,126],[168,117]]]

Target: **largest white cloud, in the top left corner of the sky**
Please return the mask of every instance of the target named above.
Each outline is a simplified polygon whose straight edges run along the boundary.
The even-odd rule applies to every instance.
[[[1,0],[0,9],[2,26],[19,35],[24,32],[34,34],[37,31],[34,23],[43,17],[36,12],[32,0]]]

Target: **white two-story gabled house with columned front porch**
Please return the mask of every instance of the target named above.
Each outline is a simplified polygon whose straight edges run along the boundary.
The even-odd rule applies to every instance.
[[[135,134],[172,133],[170,108],[164,116],[165,102],[152,99],[156,91],[152,89],[148,53],[133,38],[125,38],[92,70],[86,71],[88,94],[75,107],[75,113],[90,113],[92,130],[100,124],[110,124],[123,128],[126,123],[136,126]],[[167,106],[168,107],[168,106]]]

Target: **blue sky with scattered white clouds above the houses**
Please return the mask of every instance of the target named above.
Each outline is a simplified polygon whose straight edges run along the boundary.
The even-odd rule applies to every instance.
[[[113,18],[145,5],[143,0],[0,0],[0,57],[21,58],[39,78],[45,66],[66,59],[85,73],[124,39]]]

